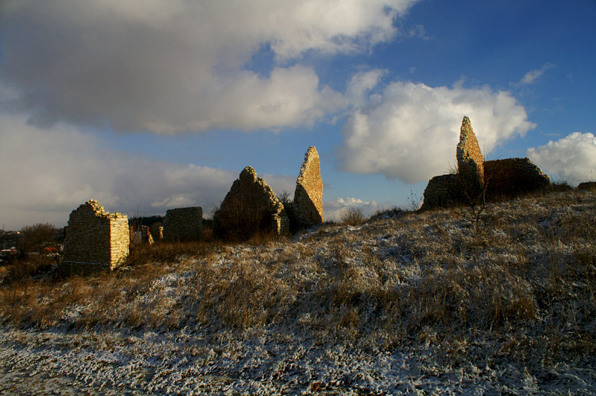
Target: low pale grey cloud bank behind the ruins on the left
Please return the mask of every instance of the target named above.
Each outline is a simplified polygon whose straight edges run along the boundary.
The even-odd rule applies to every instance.
[[[102,147],[76,128],[41,130],[25,116],[0,114],[0,222],[7,229],[50,221],[65,225],[69,213],[89,199],[111,212],[165,214],[171,207],[219,204],[238,171],[155,161]],[[295,178],[265,175],[276,192]]]

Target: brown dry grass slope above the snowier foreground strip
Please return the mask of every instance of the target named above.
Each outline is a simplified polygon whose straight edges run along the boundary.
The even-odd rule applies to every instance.
[[[273,326],[365,348],[435,343],[454,360],[480,353],[480,337],[499,346],[491,359],[576,359],[596,352],[595,198],[490,204],[482,233],[442,210],[292,242],[142,247],[128,270],[4,285],[0,315],[25,327]]]

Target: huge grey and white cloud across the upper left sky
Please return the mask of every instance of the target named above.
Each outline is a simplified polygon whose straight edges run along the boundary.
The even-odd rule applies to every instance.
[[[11,106],[43,125],[161,134],[310,125],[345,103],[292,62],[387,41],[414,1],[8,2],[0,78],[20,93]],[[276,58],[267,76],[245,69],[263,48]]]

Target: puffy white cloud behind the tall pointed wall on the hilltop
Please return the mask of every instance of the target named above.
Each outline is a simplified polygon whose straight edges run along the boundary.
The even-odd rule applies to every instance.
[[[428,180],[455,165],[463,116],[469,116],[480,149],[488,153],[534,124],[510,93],[491,88],[432,88],[395,82],[344,125],[339,160],[344,170],[380,173],[402,182]]]

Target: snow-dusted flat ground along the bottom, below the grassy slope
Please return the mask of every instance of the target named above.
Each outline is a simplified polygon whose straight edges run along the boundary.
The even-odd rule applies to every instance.
[[[291,332],[0,331],[0,392],[22,395],[593,395],[596,371],[441,362],[428,344],[358,350]],[[593,363],[593,362],[592,362]]]

